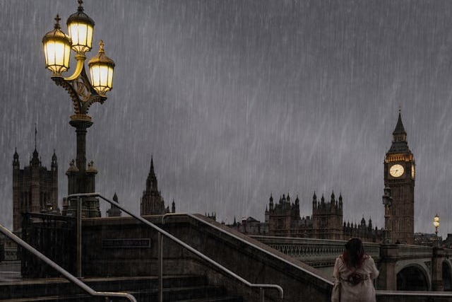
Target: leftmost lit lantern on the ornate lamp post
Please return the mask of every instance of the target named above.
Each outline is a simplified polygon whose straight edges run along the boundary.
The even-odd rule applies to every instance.
[[[54,76],[69,69],[69,58],[71,57],[71,37],[61,31],[57,15],[54,30],[46,33],[42,38],[44,45],[45,66],[53,72]]]

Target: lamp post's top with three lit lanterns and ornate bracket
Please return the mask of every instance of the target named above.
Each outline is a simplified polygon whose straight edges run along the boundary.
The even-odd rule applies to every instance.
[[[74,115],[71,120],[91,120],[88,109],[93,103],[103,103],[105,93],[112,90],[114,62],[105,54],[104,42],[100,42],[99,53],[90,60],[91,81],[86,76],[85,52],[92,48],[94,21],[83,11],[83,1],[78,0],[78,10],[69,16],[69,35],[61,31],[59,16],[54,30],[42,38],[46,68],[52,71],[52,80],[68,91],[73,101]],[[76,70],[69,77],[61,74],[69,69],[71,49],[76,52]]]

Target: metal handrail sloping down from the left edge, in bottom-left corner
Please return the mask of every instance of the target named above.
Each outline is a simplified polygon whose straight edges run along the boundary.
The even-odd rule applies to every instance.
[[[42,254],[42,252],[40,252],[39,250],[36,250],[35,248],[33,248],[31,245],[26,243],[24,240],[20,239],[18,236],[14,235],[11,231],[8,230],[8,228],[5,228],[1,224],[0,224],[0,232],[4,233],[5,236],[8,236],[8,238],[10,238],[14,242],[16,242],[18,245],[22,246],[23,248],[25,248],[26,250],[31,252],[33,255],[38,257],[40,260],[46,262],[47,265],[49,265],[49,266],[53,267],[54,269],[56,269],[57,272],[62,274],[66,279],[71,281],[73,284],[76,284],[76,286],[80,287],[81,289],[86,291],[91,296],[102,296],[102,297],[106,297],[106,298],[108,298],[108,297],[120,297],[120,298],[126,298],[129,301],[131,301],[131,302],[136,302],[135,297],[132,296],[131,294],[119,293],[119,292],[114,293],[114,292],[108,292],[108,291],[95,291],[94,289],[91,289],[90,286],[88,286],[88,285],[84,284],[82,281],[78,280],[71,273],[66,271],[66,269],[64,269],[64,268],[60,267],[59,265],[57,265],[57,263],[55,263],[52,260],[50,260],[44,254]]]

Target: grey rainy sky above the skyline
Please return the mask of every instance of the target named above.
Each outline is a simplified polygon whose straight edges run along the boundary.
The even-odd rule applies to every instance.
[[[263,220],[270,193],[344,199],[345,221],[383,226],[383,158],[398,108],[415,154],[415,231],[452,233],[451,1],[85,1],[116,63],[90,109],[97,191],[138,212],[150,157],[177,211]],[[71,101],[44,69],[42,36],[76,1],[0,0],[0,223],[12,158],[64,173]],[[66,30],[66,26],[63,26]],[[97,44],[97,43],[96,43]],[[97,53],[97,46],[88,58]],[[71,69],[71,71],[73,68]],[[102,211],[105,214],[105,210]]]

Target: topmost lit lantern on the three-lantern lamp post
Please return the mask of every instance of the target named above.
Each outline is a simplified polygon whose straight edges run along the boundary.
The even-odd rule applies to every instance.
[[[69,16],[69,37],[72,39],[72,49],[78,54],[89,52],[93,45],[94,21],[83,11],[83,1],[78,0],[78,10]]]

